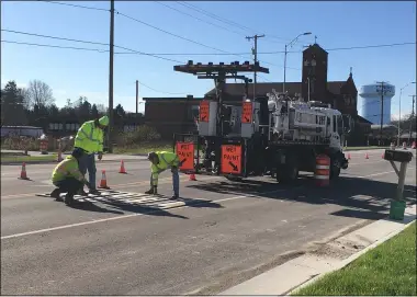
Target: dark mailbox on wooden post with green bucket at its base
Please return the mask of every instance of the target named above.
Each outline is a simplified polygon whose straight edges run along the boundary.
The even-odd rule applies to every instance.
[[[391,165],[394,168],[395,173],[398,176],[398,185],[396,190],[395,199],[391,201],[390,218],[395,220],[403,220],[406,207],[406,203],[403,196],[404,182],[407,172],[407,164],[409,163],[409,161],[412,161],[413,153],[410,151],[386,149],[384,153],[384,159],[390,161]],[[394,162],[401,163],[399,170]]]

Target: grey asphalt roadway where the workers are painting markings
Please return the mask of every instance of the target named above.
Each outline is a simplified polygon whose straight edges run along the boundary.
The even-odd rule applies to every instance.
[[[257,179],[182,176],[181,203],[154,207],[102,199],[67,207],[35,193],[52,191],[52,164],[1,168],[1,294],[216,294],[294,256],[308,243],[381,218],[397,181],[381,150],[350,152],[351,164],[328,189]],[[143,193],[148,163],[99,162],[113,190]],[[100,178],[100,175],[99,175]],[[160,180],[170,195],[170,176]],[[405,195],[415,203],[415,160]],[[204,199],[206,202],[202,202]],[[138,201],[137,198],[134,201]],[[208,202],[211,201],[211,202]],[[183,205],[184,203],[182,203]]]

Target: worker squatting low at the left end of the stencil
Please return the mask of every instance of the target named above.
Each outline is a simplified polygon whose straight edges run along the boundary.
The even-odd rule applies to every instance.
[[[71,204],[74,202],[74,195],[76,195],[84,185],[91,189],[90,183],[84,179],[79,169],[79,159],[83,157],[81,149],[75,149],[71,156],[64,159],[54,169],[52,174],[52,182],[57,187],[50,196],[59,199],[60,193],[67,193],[65,196],[65,204]]]

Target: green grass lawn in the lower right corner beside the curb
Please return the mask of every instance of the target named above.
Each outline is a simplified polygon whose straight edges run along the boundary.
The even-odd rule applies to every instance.
[[[294,296],[416,296],[416,222]]]

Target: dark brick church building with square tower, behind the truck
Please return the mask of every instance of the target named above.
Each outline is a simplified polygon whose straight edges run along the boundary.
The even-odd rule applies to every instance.
[[[340,81],[327,81],[328,53],[318,44],[311,45],[303,52],[302,81],[285,82],[289,95],[301,94],[307,101],[322,101],[331,104],[333,108],[342,114],[349,114],[354,121],[354,130],[348,139],[349,145],[362,145],[365,135],[370,133],[371,123],[358,115],[358,90],[350,70],[348,78]],[[282,82],[257,83],[257,96],[266,95],[272,89],[281,92]],[[249,96],[253,90],[249,83]],[[241,99],[245,93],[244,83],[226,83],[224,95],[228,99]],[[205,96],[213,96],[215,89]],[[145,122],[155,126],[166,137],[173,133],[193,129],[193,116],[198,114],[199,102],[202,98],[144,98]]]

